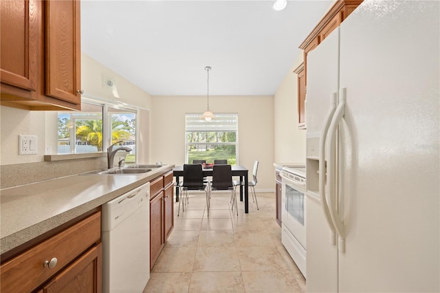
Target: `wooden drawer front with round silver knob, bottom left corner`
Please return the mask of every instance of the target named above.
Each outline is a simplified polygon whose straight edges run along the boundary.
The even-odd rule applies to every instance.
[[[14,259],[3,263],[1,292],[30,292],[76,259],[100,239],[101,213],[95,213]],[[45,261],[57,259],[53,268]]]

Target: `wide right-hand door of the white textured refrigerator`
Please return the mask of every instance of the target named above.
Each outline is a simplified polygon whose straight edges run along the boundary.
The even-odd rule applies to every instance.
[[[364,1],[340,25],[340,292],[440,291],[439,4]]]

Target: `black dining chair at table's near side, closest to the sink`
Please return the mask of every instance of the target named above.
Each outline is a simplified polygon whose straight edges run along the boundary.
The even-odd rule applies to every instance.
[[[180,213],[180,203],[182,202],[182,210],[185,211],[185,205],[188,203],[188,191],[205,191],[206,205],[209,208],[209,190],[208,183],[203,181],[203,169],[201,164],[184,164],[184,181],[179,182],[181,199],[179,200],[179,209],[177,217]]]

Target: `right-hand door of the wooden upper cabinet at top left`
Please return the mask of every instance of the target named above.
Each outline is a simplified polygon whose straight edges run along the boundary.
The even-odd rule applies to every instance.
[[[46,1],[46,95],[80,104],[80,1]]]

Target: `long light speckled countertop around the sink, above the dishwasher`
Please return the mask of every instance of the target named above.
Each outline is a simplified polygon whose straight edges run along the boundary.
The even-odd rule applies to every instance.
[[[72,175],[0,190],[0,254],[174,168],[144,175]]]

